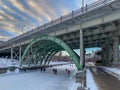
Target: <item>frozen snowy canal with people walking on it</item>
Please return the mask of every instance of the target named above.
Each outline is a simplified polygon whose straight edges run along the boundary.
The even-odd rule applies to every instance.
[[[57,75],[52,69],[58,70]],[[71,90],[75,66],[64,65],[46,69],[46,72],[27,71],[18,74],[0,75],[0,90]],[[70,76],[65,69],[71,71]]]

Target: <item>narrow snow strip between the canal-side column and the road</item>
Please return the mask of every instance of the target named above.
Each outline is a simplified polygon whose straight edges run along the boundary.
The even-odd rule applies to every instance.
[[[89,69],[86,70],[86,82],[87,82],[87,87],[90,90],[98,90],[93,75]]]

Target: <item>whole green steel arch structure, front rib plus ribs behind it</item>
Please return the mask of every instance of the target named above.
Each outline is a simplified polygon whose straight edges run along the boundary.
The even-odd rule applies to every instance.
[[[31,50],[32,48],[32,50]],[[22,66],[23,61],[26,60],[26,56],[29,54],[29,58],[27,58],[28,65],[31,64],[40,64],[45,65],[49,64],[51,58],[60,51],[67,51],[68,54],[72,57],[76,67],[78,70],[82,70],[82,66],[80,66],[80,57],[62,40],[49,35],[43,35],[39,38],[36,38],[30,42],[27,48],[24,50],[24,53],[21,58],[20,66]]]

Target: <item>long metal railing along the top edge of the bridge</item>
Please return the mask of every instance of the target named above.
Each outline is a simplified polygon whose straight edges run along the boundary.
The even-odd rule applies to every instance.
[[[81,7],[78,10],[72,11],[71,13],[69,13],[67,15],[61,16],[61,17],[59,17],[59,18],[57,18],[55,20],[52,20],[52,21],[50,21],[50,22],[48,22],[46,24],[43,24],[43,25],[37,27],[36,29],[32,29],[31,31],[28,31],[28,32],[20,35],[20,37],[18,37],[18,38],[14,37],[13,39],[8,40],[8,42],[12,42],[12,41],[14,41],[16,39],[19,39],[21,37],[30,35],[30,34],[32,34],[34,32],[41,31],[41,30],[43,30],[45,28],[48,28],[48,27],[50,27],[52,25],[56,25],[56,24],[58,24],[58,23],[60,23],[62,21],[66,21],[66,20],[68,20],[70,18],[73,18],[73,17],[76,17],[78,15],[82,15],[83,13],[86,13],[86,12],[91,11],[93,9],[96,9],[98,7],[104,6],[104,5],[106,5],[106,4],[108,4],[108,3],[112,2],[112,1],[115,1],[115,0],[98,0],[98,1],[96,1],[94,3],[92,3],[92,4],[85,5],[84,7]]]

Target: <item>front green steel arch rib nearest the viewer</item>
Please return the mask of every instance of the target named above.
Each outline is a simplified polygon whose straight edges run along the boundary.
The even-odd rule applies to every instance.
[[[56,37],[53,37],[53,36],[49,36],[49,35],[43,35],[43,36],[40,36],[39,38],[36,38],[36,39],[31,41],[31,43],[27,46],[27,48],[25,49],[25,51],[24,51],[24,53],[22,55],[20,66],[22,66],[24,57],[27,54],[27,52],[30,49],[30,47],[32,47],[34,44],[36,44],[38,42],[41,42],[41,41],[51,41],[56,46],[62,47],[73,58],[73,61],[74,61],[75,65],[76,65],[77,69],[78,70],[82,70],[83,69],[82,66],[80,66],[80,64],[79,64],[80,57],[78,55],[76,55],[76,53],[68,45],[66,45],[62,40],[60,40],[60,39],[58,39]]]

